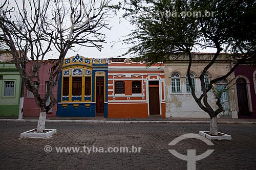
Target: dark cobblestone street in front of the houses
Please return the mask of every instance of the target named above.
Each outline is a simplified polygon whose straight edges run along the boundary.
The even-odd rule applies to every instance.
[[[208,124],[99,124],[47,123],[57,129],[49,139],[19,139],[36,123],[0,123],[1,169],[187,169],[187,162],[169,153],[169,149],[187,155],[215,151],[196,162],[197,169],[256,169],[256,125],[220,124],[219,131],[232,140],[213,141],[209,146],[199,139],[184,139],[175,146],[168,143],[186,133],[208,130]],[[44,151],[46,145],[52,152]],[[140,153],[57,153],[55,147],[141,147]]]

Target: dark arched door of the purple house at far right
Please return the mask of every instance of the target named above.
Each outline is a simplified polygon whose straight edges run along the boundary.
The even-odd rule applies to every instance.
[[[246,86],[247,84],[245,79],[239,78],[237,80],[238,109],[239,115],[241,116],[246,116],[249,114]]]

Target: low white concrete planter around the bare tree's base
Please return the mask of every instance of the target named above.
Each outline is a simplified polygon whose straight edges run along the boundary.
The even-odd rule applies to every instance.
[[[27,132],[20,133],[19,138],[42,138],[42,139],[47,139],[57,133],[56,129],[45,129],[45,130],[50,130],[49,132],[42,132],[42,133],[37,133],[33,132],[36,129],[29,130]]]

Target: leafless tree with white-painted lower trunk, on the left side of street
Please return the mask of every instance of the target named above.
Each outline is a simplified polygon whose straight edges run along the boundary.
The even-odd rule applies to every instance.
[[[57,103],[53,88],[57,85],[63,60],[74,45],[102,48],[108,28],[106,18],[109,0],[6,0],[1,4],[0,40],[5,42],[13,55],[15,65],[25,85],[34,94],[40,108],[37,132],[45,130],[46,114]],[[45,96],[38,94],[40,85],[39,68],[46,55],[57,50],[57,62],[51,67]],[[32,74],[26,69],[26,58],[33,62]],[[37,78],[38,86],[33,83]],[[50,105],[46,102],[50,98]]]

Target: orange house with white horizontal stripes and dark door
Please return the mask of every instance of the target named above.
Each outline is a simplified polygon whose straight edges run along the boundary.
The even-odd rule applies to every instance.
[[[110,58],[108,117],[165,117],[164,67]]]

